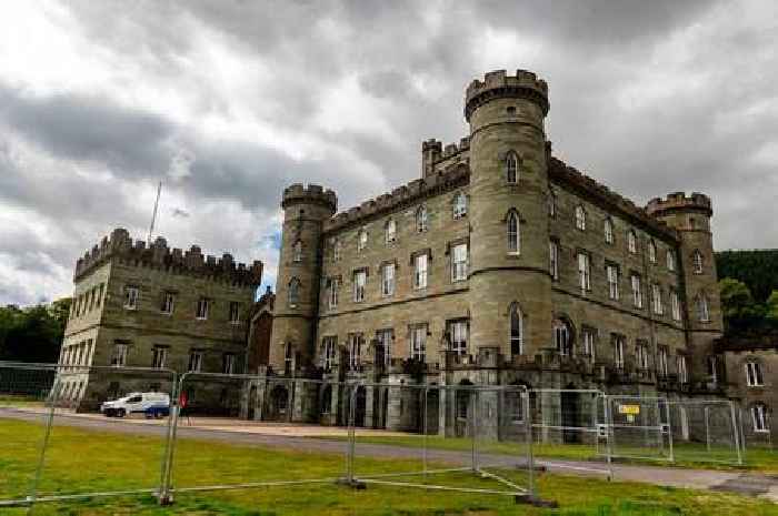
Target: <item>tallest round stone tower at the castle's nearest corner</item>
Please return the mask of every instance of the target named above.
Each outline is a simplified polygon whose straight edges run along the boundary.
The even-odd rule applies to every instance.
[[[535,73],[487,73],[467,89],[470,124],[470,341],[506,357],[551,342],[548,87]],[[513,223],[513,225],[511,225]],[[518,237],[510,240],[512,227]],[[521,345],[511,341],[518,308]],[[519,350],[519,347],[521,347]]]

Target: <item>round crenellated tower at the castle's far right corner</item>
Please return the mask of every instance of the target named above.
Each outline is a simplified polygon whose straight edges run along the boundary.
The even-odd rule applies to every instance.
[[[708,374],[708,356],[714,354],[712,342],[724,332],[710,231],[714,214],[710,198],[697,192],[691,195],[676,192],[666,199],[652,199],[646,210],[678,231],[677,259],[682,273],[688,343],[692,353],[690,373],[692,382],[704,382]]]

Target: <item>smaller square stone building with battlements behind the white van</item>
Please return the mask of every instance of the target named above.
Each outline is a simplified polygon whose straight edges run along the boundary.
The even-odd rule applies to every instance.
[[[59,361],[72,367],[60,368],[60,399],[96,409],[130,392],[170,392],[166,370],[243,373],[248,312],[261,277],[260,262],[247,267],[229,254],[203,256],[197,245],[171,250],[162,237],[147,247],[113,230],[76,265]],[[237,385],[206,386],[194,377],[187,392],[203,412],[237,415]]]

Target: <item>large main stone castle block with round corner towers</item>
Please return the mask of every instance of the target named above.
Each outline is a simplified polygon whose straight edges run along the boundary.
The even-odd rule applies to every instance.
[[[710,199],[639,206],[599,184],[552,155],[549,105],[535,73],[490,72],[467,88],[469,134],[423,142],[419,179],[340,213],[330,190],[287,188],[268,371],[720,394]],[[282,383],[260,388],[269,416],[342,421],[335,393],[290,405]],[[360,388],[358,424],[418,426],[391,396]],[[566,396],[562,417],[585,403]],[[456,404],[432,403],[433,429],[453,428]]]

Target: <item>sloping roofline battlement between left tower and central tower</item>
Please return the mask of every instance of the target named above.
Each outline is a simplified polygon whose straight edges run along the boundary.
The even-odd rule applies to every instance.
[[[340,212],[325,222],[325,231],[338,231],[351,224],[365,223],[368,219],[379,216],[427,196],[437,195],[455,188],[468,184],[470,169],[465,163],[449,166],[445,171],[428,174],[402,186],[396,188],[391,193],[385,193],[362,202],[359,206]]]

